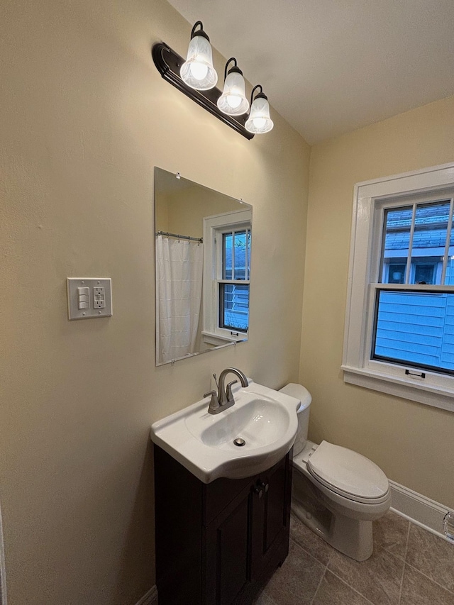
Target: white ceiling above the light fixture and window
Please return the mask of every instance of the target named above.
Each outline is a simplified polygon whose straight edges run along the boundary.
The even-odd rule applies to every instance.
[[[454,94],[454,0],[170,4],[311,144]]]

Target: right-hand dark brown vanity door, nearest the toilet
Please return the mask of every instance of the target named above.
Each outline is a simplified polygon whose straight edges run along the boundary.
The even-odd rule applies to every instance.
[[[256,579],[265,568],[282,562],[288,553],[292,463],[284,457],[260,478],[253,490],[252,568]],[[287,544],[284,550],[281,545]],[[282,555],[282,553],[284,553]],[[279,560],[275,561],[275,557]]]

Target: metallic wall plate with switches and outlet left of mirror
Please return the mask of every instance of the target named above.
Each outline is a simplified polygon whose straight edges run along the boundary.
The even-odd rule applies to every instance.
[[[79,309],[81,291],[78,288],[89,289],[88,309]],[[101,303],[99,302],[100,293],[104,294],[104,300]],[[110,277],[68,277],[67,295],[69,319],[110,317],[112,314],[112,280]]]

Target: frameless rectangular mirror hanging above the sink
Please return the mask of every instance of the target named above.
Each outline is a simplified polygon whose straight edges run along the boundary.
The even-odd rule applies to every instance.
[[[156,365],[248,340],[252,206],[155,167]]]

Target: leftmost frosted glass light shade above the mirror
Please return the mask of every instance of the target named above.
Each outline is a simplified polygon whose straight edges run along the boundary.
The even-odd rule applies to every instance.
[[[211,45],[203,35],[194,35],[189,42],[187,60],[179,74],[185,84],[196,90],[209,90],[216,86],[218,74],[213,67]]]

